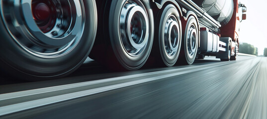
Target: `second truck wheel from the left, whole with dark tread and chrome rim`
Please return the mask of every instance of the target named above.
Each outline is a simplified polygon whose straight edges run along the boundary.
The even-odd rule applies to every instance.
[[[97,41],[90,57],[114,70],[141,68],[150,55],[154,38],[150,1],[100,1],[98,11],[102,11],[99,12],[102,26],[99,25],[101,31],[97,32],[96,39],[101,41]]]

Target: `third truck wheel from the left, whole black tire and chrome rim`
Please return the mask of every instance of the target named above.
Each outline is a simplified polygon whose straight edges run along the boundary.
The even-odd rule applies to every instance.
[[[178,60],[182,37],[180,15],[173,4],[167,5],[161,12],[158,24],[155,45],[159,45],[164,64],[173,66]]]

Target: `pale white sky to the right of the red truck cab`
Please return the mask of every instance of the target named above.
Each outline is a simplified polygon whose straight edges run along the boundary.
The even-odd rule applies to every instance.
[[[259,56],[267,48],[267,0],[239,0],[247,6],[247,20],[241,22],[239,42],[259,49]]]

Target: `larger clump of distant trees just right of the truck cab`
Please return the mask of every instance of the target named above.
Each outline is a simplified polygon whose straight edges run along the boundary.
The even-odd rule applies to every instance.
[[[258,56],[258,48],[255,48],[253,45],[248,44],[248,43],[242,43],[242,44],[239,44],[239,53]],[[266,55],[267,55],[267,51],[266,51]]]

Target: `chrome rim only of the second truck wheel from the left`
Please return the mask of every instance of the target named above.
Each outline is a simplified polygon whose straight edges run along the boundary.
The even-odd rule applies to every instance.
[[[139,56],[149,39],[149,18],[145,6],[139,0],[127,0],[120,13],[120,37],[125,52]]]

